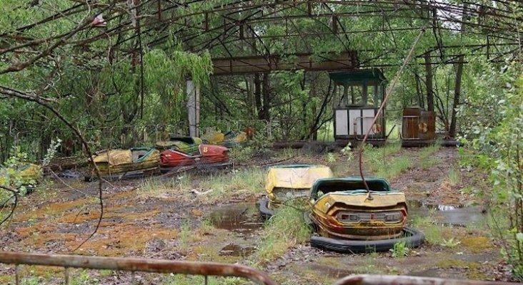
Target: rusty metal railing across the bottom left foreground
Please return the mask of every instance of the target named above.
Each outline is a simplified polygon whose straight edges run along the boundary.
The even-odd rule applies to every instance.
[[[82,268],[201,275],[205,277],[204,284],[207,284],[207,276],[235,276],[256,284],[277,285],[267,274],[249,266],[216,262],[0,252],[0,263],[15,264],[16,285],[21,284],[19,266],[22,264],[64,267],[65,284],[69,284],[70,268]]]

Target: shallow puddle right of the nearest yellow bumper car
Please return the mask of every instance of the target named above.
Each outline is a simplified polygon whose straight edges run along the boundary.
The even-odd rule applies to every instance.
[[[484,222],[485,214],[477,206],[463,207],[463,205],[445,204],[423,204],[419,201],[409,202],[409,216],[426,217],[433,212],[437,217],[438,224],[450,225],[453,227],[467,227],[470,224],[480,224]]]

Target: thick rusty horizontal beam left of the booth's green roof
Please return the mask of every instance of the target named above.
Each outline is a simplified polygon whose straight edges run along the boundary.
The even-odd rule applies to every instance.
[[[270,71],[334,71],[359,67],[356,51],[337,55],[314,55],[313,53],[294,53],[269,56],[242,56],[234,58],[213,58],[215,76],[242,73],[264,73]]]

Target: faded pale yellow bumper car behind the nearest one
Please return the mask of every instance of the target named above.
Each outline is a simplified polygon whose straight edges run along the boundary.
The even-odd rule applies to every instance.
[[[323,165],[280,165],[269,168],[265,180],[266,196],[259,201],[260,214],[264,218],[272,217],[279,204],[308,197],[316,180],[332,176],[331,169]]]

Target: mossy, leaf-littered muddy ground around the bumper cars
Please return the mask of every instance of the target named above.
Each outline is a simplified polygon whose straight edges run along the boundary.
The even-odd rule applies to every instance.
[[[100,214],[98,182],[49,179],[22,199],[14,218],[1,227],[0,249],[246,264],[280,284],[333,284],[342,276],[362,273],[507,280],[499,242],[487,226],[487,207],[475,195],[488,189],[484,174],[460,169],[454,148],[441,148],[420,160],[422,151],[402,149],[386,157],[386,161],[408,157],[411,162],[390,182],[407,196],[410,224],[421,227],[431,241],[412,249],[407,257],[392,257],[391,252],[337,254],[304,242],[290,244],[277,259],[259,260],[256,250],[264,236],[264,221],[256,201],[264,195],[263,179],[247,182],[259,190],[244,191],[238,185],[221,195],[215,195],[217,190],[206,192],[210,189],[201,187],[201,182],[234,181],[246,169],[263,177],[266,167],[291,163],[331,165],[337,175],[358,171],[356,159],[347,161],[338,152],[333,159],[296,151],[287,151],[286,157],[281,152],[265,153],[234,170],[105,183],[104,217],[94,237],[79,249]],[[25,284],[58,284],[63,271],[43,266],[20,269]],[[13,266],[0,265],[0,274],[1,284],[14,282]],[[131,279],[138,284],[186,284],[168,274],[79,270],[74,274],[77,284],[129,284]],[[231,279],[223,282],[238,284]]]

